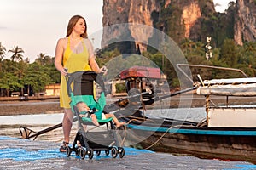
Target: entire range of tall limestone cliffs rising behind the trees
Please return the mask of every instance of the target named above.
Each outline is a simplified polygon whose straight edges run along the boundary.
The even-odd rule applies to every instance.
[[[212,0],[103,0],[102,46],[112,42],[113,38],[129,37],[134,40],[135,47],[142,51],[147,48],[145,44],[152,37],[152,29],[116,25],[121,23],[158,26],[176,42],[185,37],[204,42],[212,34],[216,36],[213,38],[218,42],[216,44],[220,45],[225,32],[229,32],[227,38],[234,38],[238,44],[255,41],[255,0],[236,0],[230,4],[234,4],[231,12],[218,14]],[[216,20],[218,16],[223,18]]]

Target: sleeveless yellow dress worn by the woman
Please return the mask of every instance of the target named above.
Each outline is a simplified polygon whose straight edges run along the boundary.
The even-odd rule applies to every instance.
[[[67,48],[63,54],[63,67],[67,68],[68,73],[75,71],[90,71],[89,53],[84,41],[81,37],[83,45],[83,52],[76,54],[70,48],[70,37],[67,37]],[[61,76],[61,89],[60,89],[60,106],[70,108],[70,98],[67,95],[67,82],[64,76]]]

